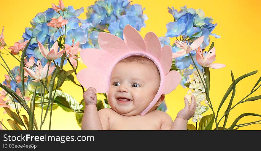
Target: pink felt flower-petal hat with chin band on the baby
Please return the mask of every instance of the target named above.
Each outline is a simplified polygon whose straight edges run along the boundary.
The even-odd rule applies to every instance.
[[[82,49],[80,57],[87,66],[77,74],[79,83],[85,88],[93,87],[98,93],[108,95],[111,73],[114,66],[130,56],[144,56],[152,60],[160,72],[160,86],[154,99],[141,112],[145,115],[157,102],[162,94],[173,91],[181,81],[177,71],[169,71],[172,65],[171,46],[161,48],[160,41],[155,33],[149,32],[143,39],[131,25],[123,29],[123,39],[110,33],[100,32],[98,43],[102,50]]]

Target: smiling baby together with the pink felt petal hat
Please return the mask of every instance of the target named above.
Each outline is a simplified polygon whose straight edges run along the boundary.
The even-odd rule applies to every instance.
[[[123,29],[123,38],[100,32],[102,50],[89,48],[80,53],[88,67],[77,74],[78,81],[87,88],[83,94],[82,130],[187,130],[195,112],[194,96],[191,103],[184,98],[185,107],[174,121],[156,110],[165,94],[181,81],[177,71],[169,71],[171,47],[161,47],[152,32],[143,39],[130,25]],[[97,111],[97,92],[106,92],[111,108]]]

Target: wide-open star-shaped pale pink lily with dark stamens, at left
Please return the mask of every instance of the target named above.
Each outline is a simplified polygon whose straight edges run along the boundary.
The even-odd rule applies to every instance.
[[[51,64],[51,62],[47,62],[43,68],[42,63],[40,62],[40,60],[38,60],[35,71],[33,71],[27,67],[23,67],[23,69],[26,70],[26,72],[28,73],[29,76],[31,76],[32,78],[35,79],[35,80],[33,80],[34,82],[37,82],[46,77],[48,65],[50,65],[50,64]],[[49,67],[48,76],[52,73],[54,68],[55,68],[54,65],[52,67]]]

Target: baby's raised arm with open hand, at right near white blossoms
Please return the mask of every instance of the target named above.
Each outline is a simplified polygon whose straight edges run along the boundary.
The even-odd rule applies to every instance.
[[[185,100],[185,107],[179,111],[177,117],[175,118],[171,130],[187,130],[187,122],[188,120],[194,115],[196,109],[196,101],[195,97],[191,97],[191,103],[189,104],[186,97]]]

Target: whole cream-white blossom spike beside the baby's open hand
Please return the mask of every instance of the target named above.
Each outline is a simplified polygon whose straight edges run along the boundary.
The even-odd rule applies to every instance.
[[[203,77],[202,73],[200,73],[200,76]],[[204,78],[206,78],[206,76]],[[197,122],[197,121],[200,121],[200,119],[203,117],[201,114],[206,112],[206,110],[208,109],[203,104],[208,105],[208,102],[206,100],[206,94],[202,93],[202,92],[205,92],[205,89],[201,83],[201,80],[200,80],[200,77],[198,76],[197,71],[193,72],[193,78],[187,79],[187,83],[189,83],[189,82],[190,82],[190,86],[189,86],[190,89],[187,91],[187,94],[185,95],[185,97],[188,99],[189,102],[191,102],[192,95],[194,95],[194,97],[195,97],[197,106],[196,106],[195,113],[192,117],[192,121]],[[193,89],[195,89],[195,90],[193,90]],[[199,89],[201,91],[198,91]]]

